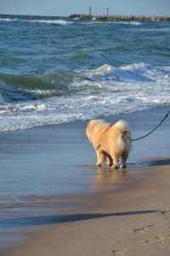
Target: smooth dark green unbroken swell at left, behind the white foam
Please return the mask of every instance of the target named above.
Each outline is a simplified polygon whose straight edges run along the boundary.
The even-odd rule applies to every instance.
[[[27,102],[61,96],[72,81],[71,73],[46,73],[36,75],[14,75],[0,73],[0,103]]]

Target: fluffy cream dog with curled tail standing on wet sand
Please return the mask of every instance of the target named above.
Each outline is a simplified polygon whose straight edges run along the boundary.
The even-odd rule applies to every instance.
[[[90,121],[86,134],[97,154],[96,166],[101,166],[107,158],[108,166],[117,168],[119,158],[122,168],[126,168],[127,157],[131,149],[131,132],[127,122],[119,120],[115,125],[101,119]]]

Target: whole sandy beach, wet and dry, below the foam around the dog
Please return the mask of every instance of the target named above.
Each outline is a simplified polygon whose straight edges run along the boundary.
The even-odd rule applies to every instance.
[[[126,119],[135,138],[168,109],[105,119]],[[94,167],[87,122],[0,134],[1,255],[170,254],[169,117],[133,143],[124,172]]]

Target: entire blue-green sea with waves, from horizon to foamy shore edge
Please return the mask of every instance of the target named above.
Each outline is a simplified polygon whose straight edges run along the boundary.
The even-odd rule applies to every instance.
[[[170,22],[0,15],[0,131],[170,104]]]

